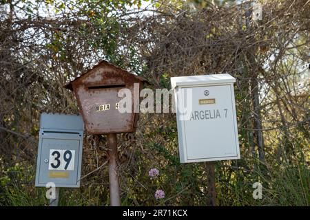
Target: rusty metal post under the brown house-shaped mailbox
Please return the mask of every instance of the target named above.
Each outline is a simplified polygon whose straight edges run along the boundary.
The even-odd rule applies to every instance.
[[[111,206],[121,206],[119,193],[118,170],[117,170],[117,139],[116,133],[107,134],[107,148],[109,151],[109,181],[110,181],[110,203]]]

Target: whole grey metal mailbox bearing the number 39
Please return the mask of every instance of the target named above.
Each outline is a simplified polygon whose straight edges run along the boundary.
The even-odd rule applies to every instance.
[[[81,116],[41,114],[35,186],[80,186],[83,130]]]

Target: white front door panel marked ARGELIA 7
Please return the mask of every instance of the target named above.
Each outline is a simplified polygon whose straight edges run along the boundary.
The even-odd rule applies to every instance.
[[[187,162],[238,159],[232,85],[182,89],[192,89],[192,113],[183,120]]]

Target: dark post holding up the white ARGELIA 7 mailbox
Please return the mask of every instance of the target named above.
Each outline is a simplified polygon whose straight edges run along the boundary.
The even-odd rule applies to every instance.
[[[207,205],[216,206],[214,162],[207,162]]]

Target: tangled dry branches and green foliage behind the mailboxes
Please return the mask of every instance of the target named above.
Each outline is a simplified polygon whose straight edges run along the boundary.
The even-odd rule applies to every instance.
[[[152,89],[172,76],[236,77],[241,159],[216,162],[216,203],[309,206],[310,3],[257,2],[258,21],[254,1],[1,0],[0,205],[48,205],[34,188],[39,115],[78,114],[63,85],[106,59]],[[84,140],[81,188],[61,188],[60,205],[108,206],[105,139]],[[180,164],[174,113],[143,113],[118,140],[123,205],[207,205],[206,164]]]

